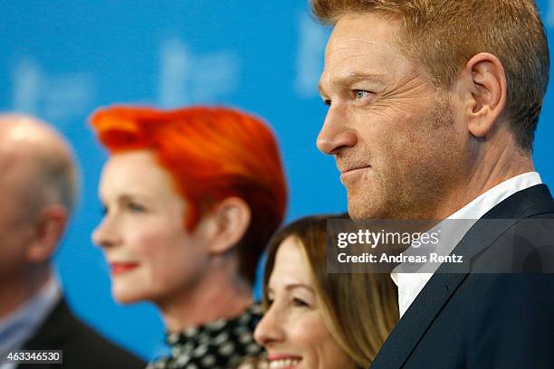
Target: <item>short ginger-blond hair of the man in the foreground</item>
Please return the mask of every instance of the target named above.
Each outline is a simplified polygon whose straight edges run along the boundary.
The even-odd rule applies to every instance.
[[[508,84],[507,118],[519,147],[532,149],[549,83],[549,47],[532,0],[311,0],[315,17],[335,24],[345,14],[402,20],[396,42],[447,89],[479,52],[494,54]]]

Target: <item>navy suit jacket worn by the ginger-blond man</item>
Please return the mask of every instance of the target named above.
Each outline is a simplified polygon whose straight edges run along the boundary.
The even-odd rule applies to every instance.
[[[554,368],[554,274],[526,272],[540,269],[541,252],[552,256],[552,196],[546,185],[535,185],[511,195],[482,219],[453,253],[479,265],[523,250],[523,260],[504,262],[523,273],[435,273],[371,369]],[[548,224],[529,231],[522,224],[530,219]],[[445,270],[445,265],[439,269]]]

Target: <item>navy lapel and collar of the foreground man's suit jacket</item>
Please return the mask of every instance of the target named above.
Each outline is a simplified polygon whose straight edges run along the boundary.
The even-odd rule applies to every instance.
[[[553,212],[554,204],[547,186],[532,186],[511,195],[486,213],[483,219],[499,221],[494,222],[493,226],[491,222],[476,222],[455,247],[453,253],[463,255],[463,260],[470,260],[473,255],[486,249],[501,233],[522,218]],[[467,272],[460,270],[449,272],[447,265],[443,264],[429,279],[393,329],[371,364],[371,369],[401,368],[467,276]]]

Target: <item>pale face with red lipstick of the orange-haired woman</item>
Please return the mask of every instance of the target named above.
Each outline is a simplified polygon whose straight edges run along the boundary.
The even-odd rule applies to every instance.
[[[186,231],[186,202],[151,152],[111,156],[100,200],[106,213],[92,239],[110,264],[114,298],[163,304],[192,289],[208,257],[202,222]]]

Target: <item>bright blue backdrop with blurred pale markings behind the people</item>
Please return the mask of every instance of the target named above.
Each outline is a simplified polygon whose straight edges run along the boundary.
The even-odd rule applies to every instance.
[[[551,4],[550,4],[551,3]],[[287,220],[346,211],[332,157],[315,138],[326,107],[317,84],[330,29],[300,0],[2,0],[0,110],[33,114],[71,141],[81,201],[56,267],[77,315],[145,359],[164,353],[163,325],[148,304],[119,306],[108,266],[91,243],[100,222],[97,185],[106,153],[87,117],[104,105],[233,105],[268,121],[289,179]],[[554,0],[538,5],[554,40]],[[543,181],[554,186],[554,92],[535,140]],[[0,199],[1,206],[1,199]]]

